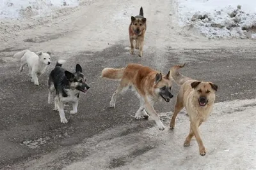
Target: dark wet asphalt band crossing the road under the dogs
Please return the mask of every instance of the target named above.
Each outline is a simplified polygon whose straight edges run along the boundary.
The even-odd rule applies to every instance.
[[[0,53],[4,57],[11,57],[19,50],[21,49],[10,48]],[[91,88],[87,94],[80,95],[76,115],[68,113],[71,106],[65,108],[68,124],[60,123],[58,113],[52,110],[53,103],[47,104],[47,76],[63,53],[52,52],[52,64],[40,76],[39,87],[30,82],[27,67],[24,72],[19,73],[18,62],[6,62],[0,57],[0,167],[5,169],[12,164],[54,152],[58,148],[68,148],[118,125],[133,124],[139,100],[128,91],[118,96],[115,109],[109,108],[111,95],[118,82],[100,79],[100,72],[104,67],[125,67],[126,64],[135,62],[167,73],[174,64],[186,62],[186,67],[181,70],[183,74],[218,85],[218,103],[255,99],[255,52],[256,48],[169,48],[161,54],[145,51],[140,58],[138,55],[130,55],[120,42],[120,45],[109,45],[109,48],[101,52],[70,54],[70,59],[63,67],[74,71],[76,64],[81,64]],[[177,90],[177,85],[173,85],[174,96]],[[157,112],[173,111],[174,104],[175,98],[170,103],[157,103],[155,109]],[[139,124],[136,131],[154,125],[154,122],[147,120],[136,123]],[[133,131],[134,129],[127,129],[124,135]],[[74,162],[76,157],[79,155],[70,153],[63,159]],[[115,167],[115,162],[113,164]]]

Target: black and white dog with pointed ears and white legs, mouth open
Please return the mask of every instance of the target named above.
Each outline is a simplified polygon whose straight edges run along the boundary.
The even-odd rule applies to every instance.
[[[77,113],[79,92],[86,92],[90,87],[85,83],[82,67],[76,64],[76,72],[70,73],[63,69],[62,64],[66,60],[58,60],[55,68],[51,71],[48,79],[48,103],[51,103],[52,93],[56,90],[56,96],[54,98],[54,110],[60,113],[60,122],[67,124],[68,120],[64,113],[64,104],[72,103],[73,110],[70,114]]]

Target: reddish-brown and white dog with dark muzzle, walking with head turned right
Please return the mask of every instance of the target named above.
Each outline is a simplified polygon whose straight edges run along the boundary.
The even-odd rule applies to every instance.
[[[121,69],[104,68],[101,75],[102,78],[120,81],[120,84],[111,98],[111,108],[115,108],[116,96],[131,87],[140,98],[140,108],[136,111],[135,118],[138,120],[140,120],[141,117],[148,118],[149,114],[150,117],[156,121],[161,131],[164,130],[164,125],[159,115],[157,115],[154,110],[153,105],[155,101],[161,99],[169,102],[173,97],[171,93],[172,83],[169,80],[169,76],[170,71],[166,76],[163,76],[154,69],[141,66],[140,64],[128,64],[127,67]]]

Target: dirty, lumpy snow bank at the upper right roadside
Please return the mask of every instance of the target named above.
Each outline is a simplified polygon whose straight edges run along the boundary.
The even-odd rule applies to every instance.
[[[255,38],[255,0],[180,0],[179,24],[208,38]]]

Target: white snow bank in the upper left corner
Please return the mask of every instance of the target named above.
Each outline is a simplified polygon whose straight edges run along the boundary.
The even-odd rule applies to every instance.
[[[33,17],[51,13],[52,8],[78,6],[79,0],[3,0],[0,18]]]

